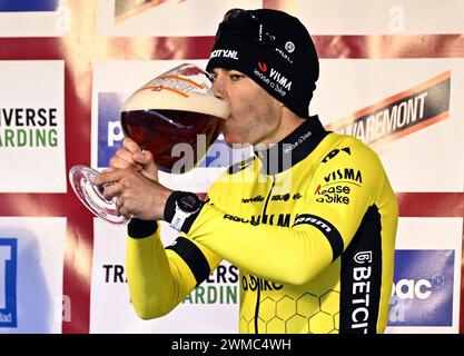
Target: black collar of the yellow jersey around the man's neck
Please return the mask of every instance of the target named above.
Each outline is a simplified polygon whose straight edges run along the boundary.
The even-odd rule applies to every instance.
[[[267,149],[254,147],[254,152],[261,160],[266,174],[273,176],[305,159],[328,134],[318,116],[312,116],[282,141]]]

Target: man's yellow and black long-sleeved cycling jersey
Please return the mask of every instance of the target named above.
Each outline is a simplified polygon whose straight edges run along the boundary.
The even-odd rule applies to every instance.
[[[231,165],[175,245],[156,222],[129,224],[131,301],[165,315],[226,259],[240,270],[240,333],[383,333],[397,218],[377,155],[310,117]]]

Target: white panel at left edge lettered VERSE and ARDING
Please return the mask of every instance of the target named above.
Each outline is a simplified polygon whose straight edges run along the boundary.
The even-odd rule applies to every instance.
[[[0,61],[0,192],[66,192],[65,61]]]

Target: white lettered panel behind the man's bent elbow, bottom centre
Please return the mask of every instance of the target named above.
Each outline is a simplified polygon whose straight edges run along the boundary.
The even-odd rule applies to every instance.
[[[126,283],[126,227],[95,219],[93,228],[90,333],[237,333],[239,285],[236,267],[223,263],[171,313],[142,320],[130,305]],[[161,236],[165,246],[176,238],[165,222]]]

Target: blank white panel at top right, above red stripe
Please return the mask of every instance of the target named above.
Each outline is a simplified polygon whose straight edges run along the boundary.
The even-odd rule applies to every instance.
[[[462,33],[464,2],[435,0],[294,0],[312,34]]]

